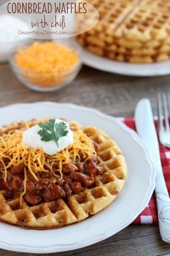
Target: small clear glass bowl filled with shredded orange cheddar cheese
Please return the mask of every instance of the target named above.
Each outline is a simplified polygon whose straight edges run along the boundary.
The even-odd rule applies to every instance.
[[[55,41],[35,41],[19,48],[10,62],[22,84],[41,92],[63,88],[81,69],[79,48]]]

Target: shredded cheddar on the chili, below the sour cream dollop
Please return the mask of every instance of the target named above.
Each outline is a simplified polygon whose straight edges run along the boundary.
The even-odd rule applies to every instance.
[[[29,125],[27,125],[29,126]],[[59,151],[55,155],[47,155],[41,148],[30,148],[22,144],[23,130],[12,129],[10,132],[4,133],[0,137],[0,163],[4,170],[4,179],[7,172],[12,166],[18,166],[24,163],[27,171],[32,174],[35,179],[38,179],[36,173],[38,171],[53,171],[53,165],[58,165],[58,171],[62,175],[63,165],[70,165],[77,169],[74,161],[80,158],[89,158],[91,155],[97,155],[94,145],[81,129],[73,131],[73,145]],[[8,158],[7,164],[4,163],[4,158]],[[1,170],[2,171],[2,170]]]

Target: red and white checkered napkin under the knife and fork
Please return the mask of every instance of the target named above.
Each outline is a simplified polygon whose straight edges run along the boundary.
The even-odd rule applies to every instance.
[[[127,118],[122,120],[128,127],[135,130],[135,121],[133,118]],[[157,127],[157,121],[155,121]],[[170,194],[170,149],[163,147],[159,144],[161,164],[164,171],[164,178],[166,180],[166,187]],[[153,193],[150,202],[148,203],[145,210],[133,221],[133,224],[151,224],[157,223],[157,209],[156,209],[156,198]]]

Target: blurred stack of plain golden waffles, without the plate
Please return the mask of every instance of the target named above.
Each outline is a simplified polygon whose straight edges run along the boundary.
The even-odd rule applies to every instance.
[[[99,56],[131,63],[170,59],[170,0],[88,0],[99,22],[78,35]],[[81,23],[83,26],[83,23]]]

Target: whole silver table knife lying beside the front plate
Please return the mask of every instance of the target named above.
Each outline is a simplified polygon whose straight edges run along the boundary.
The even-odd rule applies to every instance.
[[[166,188],[161,158],[158,147],[158,137],[153,122],[151,103],[143,98],[135,108],[135,127],[141,140],[148,148],[153,166],[156,171],[156,204],[158,209],[158,226],[161,238],[170,243],[170,199]]]

